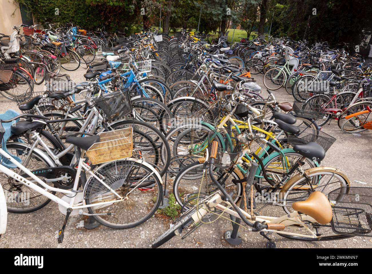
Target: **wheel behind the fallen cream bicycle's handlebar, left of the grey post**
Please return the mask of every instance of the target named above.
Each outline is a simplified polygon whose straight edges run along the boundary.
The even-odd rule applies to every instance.
[[[208,170],[208,167],[206,170]],[[231,173],[215,168],[214,175],[228,193],[234,192],[232,198],[234,203],[237,203],[242,197],[243,188],[241,184],[234,184],[232,179],[243,179],[244,175],[237,168],[232,170]],[[199,194],[199,189],[203,196]],[[219,191],[218,187],[214,185],[208,172],[203,174],[203,163],[199,162],[192,163],[182,169],[173,182],[174,197],[177,203],[186,209],[198,203],[198,194],[200,198],[211,195],[215,191]]]

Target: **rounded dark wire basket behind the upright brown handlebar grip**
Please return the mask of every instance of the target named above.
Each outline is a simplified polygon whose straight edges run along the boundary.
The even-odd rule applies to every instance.
[[[240,152],[241,145],[238,142],[237,134],[225,128],[216,128],[208,134],[208,152],[212,142],[218,142],[217,156],[214,165],[218,168],[230,168],[234,165]]]

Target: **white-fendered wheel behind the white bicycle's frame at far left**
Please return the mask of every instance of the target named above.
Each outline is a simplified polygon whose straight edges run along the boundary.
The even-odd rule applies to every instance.
[[[36,152],[33,150],[30,152],[29,148],[26,151],[25,146],[22,144],[8,142],[6,144],[7,150],[10,154],[19,157],[22,160],[22,165],[30,171],[41,168],[48,168],[54,166],[51,159],[43,154],[42,152]],[[25,163],[26,157],[31,153],[28,163]],[[18,168],[11,169],[12,171],[21,174],[33,183],[36,183],[30,176],[20,171]],[[39,179],[43,180],[42,176],[38,176]],[[46,184],[54,187],[52,182],[44,181]],[[5,197],[13,197],[12,201],[7,201],[7,208],[9,212],[13,213],[28,213],[36,211],[42,207],[45,207],[51,200],[39,192],[27,187],[24,184],[18,183],[12,178],[8,177],[5,173],[0,174],[0,184],[4,190]],[[42,187],[36,183],[39,187]],[[49,191],[55,194],[55,191]]]

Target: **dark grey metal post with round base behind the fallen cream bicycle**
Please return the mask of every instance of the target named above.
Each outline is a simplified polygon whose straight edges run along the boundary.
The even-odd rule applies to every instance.
[[[257,167],[258,167],[258,164],[256,162],[253,162],[252,165],[251,165],[251,168],[249,169],[249,174],[248,174],[248,177],[247,177],[247,184],[246,184],[246,188],[244,189],[244,191],[246,192],[246,197],[250,197],[251,186],[252,186],[253,181],[254,181],[254,175],[256,174]],[[246,200],[246,203],[247,203],[247,200]],[[244,209],[243,198],[240,201],[239,207],[241,209]],[[240,233],[238,232],[238,230],[239,230],[239,225],[240,225],[241,219],[236,218],[232,215],[230,215],[230,219],[231,219],[231,223],[232,223],[232,229],[227,230],[225,232],[225,235],[224,235],[225,240],[228,243],[230,243],[231,245],[240,245],[241,242],[242,242],[242,239],[241,239],[241,236],[240,236]]]

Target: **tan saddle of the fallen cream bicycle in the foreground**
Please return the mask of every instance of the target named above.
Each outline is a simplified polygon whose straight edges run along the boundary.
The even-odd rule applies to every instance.
[[[332,207],[328,198],[320,191],[314,191],[305,201],[294,202],[292,208],[314,218],[320,224],[332,220]]]

